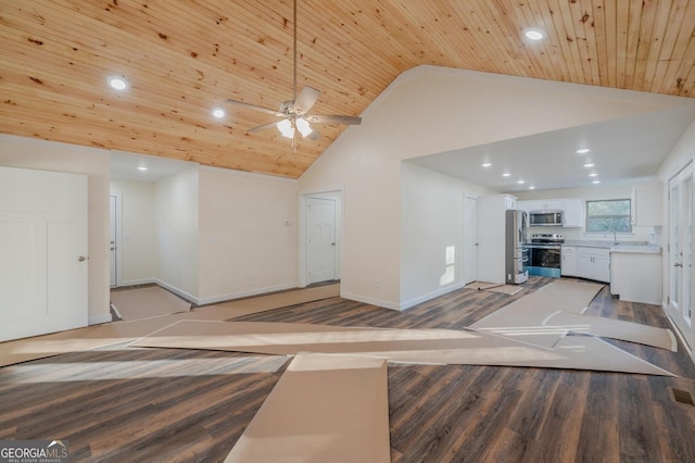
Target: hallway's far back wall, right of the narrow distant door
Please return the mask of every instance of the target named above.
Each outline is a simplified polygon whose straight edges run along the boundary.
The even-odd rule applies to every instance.
[[[118,286],[152,283],[156,276],[156,184],[111,180],[111,196],[121,210],[118,233]]]

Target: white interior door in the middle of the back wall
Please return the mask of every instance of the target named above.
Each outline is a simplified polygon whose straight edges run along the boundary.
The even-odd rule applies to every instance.
[[[336,279],[336,201],[307,198],[306,202],[307,281]]]

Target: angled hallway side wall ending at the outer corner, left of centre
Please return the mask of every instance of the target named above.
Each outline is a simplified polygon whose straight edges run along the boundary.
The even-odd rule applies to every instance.
[[[156,183],[157,283],[198,301],[198,166]]]

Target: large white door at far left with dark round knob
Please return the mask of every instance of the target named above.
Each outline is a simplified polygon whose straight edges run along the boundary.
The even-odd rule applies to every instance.
[[[0,341],[88,324],[87,176],[0,167]]]

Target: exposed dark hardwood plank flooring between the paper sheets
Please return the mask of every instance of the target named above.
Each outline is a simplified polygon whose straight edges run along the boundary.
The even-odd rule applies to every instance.
[[[460,289],[405,312],[340,298],[237,320],[464,328],[514,296]],[[669,327],[656,305],[605,288],[589,314]],[[493,366],[389,366],[394,462],[695,462],[695,366],[610,341],[679,377]],[[288,359],[125,346],[0,368],[0,439],[65,439],[72,460],[224,460]]]

